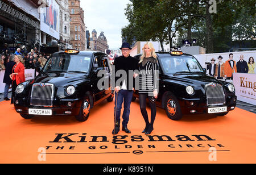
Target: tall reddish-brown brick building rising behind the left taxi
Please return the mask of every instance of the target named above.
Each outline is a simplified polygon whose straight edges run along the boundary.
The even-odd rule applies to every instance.
[[[70,13],[70,43],[74,49],[85,51],[86,27],[84,23],[84,10],[80,7],[80,0],[68,0]]]

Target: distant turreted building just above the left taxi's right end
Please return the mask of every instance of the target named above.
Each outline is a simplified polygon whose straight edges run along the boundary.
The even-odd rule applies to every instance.
[[[105,52],[106,49],[108,49],[108,40],[106,39],[106,36],[104,35],[104,32],[101,32],[100,36],[97,37],[97,31],[92,31],[92,37],[90,38],[90,46],[89,49],[91,51],[101,51]]]

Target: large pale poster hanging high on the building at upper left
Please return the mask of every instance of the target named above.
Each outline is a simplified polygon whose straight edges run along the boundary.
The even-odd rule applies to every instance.
[[[40,9],[40,26],[41,31],[60,39],[60,6],[56,1],[47,0],[49,7]]]

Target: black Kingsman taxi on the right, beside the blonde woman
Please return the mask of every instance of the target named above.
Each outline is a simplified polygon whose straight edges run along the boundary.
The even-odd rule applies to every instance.
[[[166,110],[168,118],[180,120],[184,114],[224,116],[235,109],[237,97],[234,86],[208,76],[195,57],[180,51],[156,53],[159,94],[155,103]],[[138,90],[133,101],[136,98],[139,98]]]

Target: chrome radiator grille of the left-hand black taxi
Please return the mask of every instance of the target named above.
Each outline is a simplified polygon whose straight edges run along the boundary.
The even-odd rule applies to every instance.
[[[31,91],[32,106],[52,107],[53,85],[52,84],[34,84]]]

